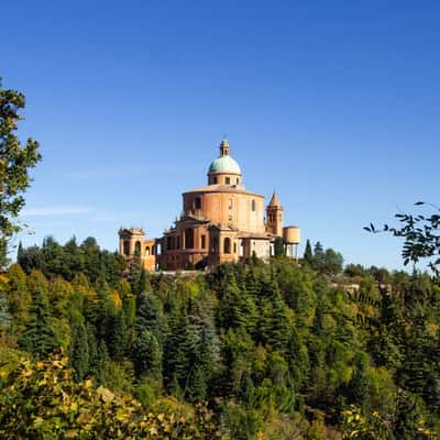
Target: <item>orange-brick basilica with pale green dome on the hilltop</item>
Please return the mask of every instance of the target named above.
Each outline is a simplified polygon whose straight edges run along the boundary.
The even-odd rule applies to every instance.
[[[129,261],[139,255],[147,271],[209,268],[253,255],[267,260],[279,238],[295,258],[300,230],[284,227],[283,217],[276,193],[266,207],[264,196],[244,187],[241,168],[223,140],[208,168],[207,185],[183,194],[182,215],[173,227],[157,239],[146,238],[141,228],[121,228],[119,252]]]

